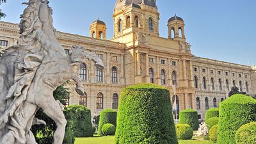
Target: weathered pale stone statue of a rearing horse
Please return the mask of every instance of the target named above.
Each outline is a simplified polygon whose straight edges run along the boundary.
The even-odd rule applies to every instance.
[[[52,92],[65,81],[76,82],[76,92],[84,95],[83,84],[73,71],[84,58],[104,68],[94,52],[74,46],[69,56],[56,38],[49,1],[29,0],[20,16],[17,45],[4,50],[0,61],[0,144],[36,144],[30,131],[33,124],[45,124],[35,118],[38,108],[54,120],[54,144],[61,144],[67,121],[63,106]]]

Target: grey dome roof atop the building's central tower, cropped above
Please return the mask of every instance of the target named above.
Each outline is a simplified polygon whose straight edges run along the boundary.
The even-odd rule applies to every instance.
[[[115,9],[122,8],[123,6],[131,5],[136,8],[140,8],[138,4],[142,1],[148,6],[156,7],[156,0],[116,0]]]

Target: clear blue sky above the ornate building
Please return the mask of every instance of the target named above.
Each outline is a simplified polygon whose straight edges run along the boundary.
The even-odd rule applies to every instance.
[[[7,0],[0,8],[7,17],[1,20],[19,23],[25,0]],[[58,31],[89,36],[93,20],[107,24],[107,38],[113,36],[113,9],[116,0],[51,1],[54,26]],[[195,56],[256,65],[255,0],[161,0],[160,36],[167,38],[167,21],[177,13],[185,21],[187,42]]]

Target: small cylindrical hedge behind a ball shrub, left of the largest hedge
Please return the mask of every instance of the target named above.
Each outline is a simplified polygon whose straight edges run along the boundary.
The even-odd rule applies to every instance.
[[[100,123],[99,123],[99,129],[98,134],[103,135],[101,128],[104,124],[113,124],[116,126],[116,115],[117,112],[113,109],[104,109],[100,112]]]

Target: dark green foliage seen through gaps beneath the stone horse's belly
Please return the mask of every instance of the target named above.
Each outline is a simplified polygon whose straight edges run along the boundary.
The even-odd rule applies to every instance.
[[[69,97],[69,92],[67,88],[65,88],[65,84],[67,83],[58,86],[58,88],[56,88],[56,90],[53,92],[54,99],[60,100],[61,104],[63,105],[66,105]],[[38,109],[35,117],[40,120],[44,120],[47,124],[33,125],[31,131],[33,132],[34,136],[36,136],[36,142],[38,144],[53,143],[53,134],[56,129],[55,122],[44,113],[43,109]]]

